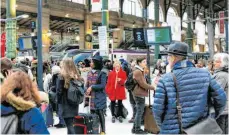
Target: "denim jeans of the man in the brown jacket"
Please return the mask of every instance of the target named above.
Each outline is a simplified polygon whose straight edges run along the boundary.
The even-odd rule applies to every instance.
[[[135,115],[135,120],[134,120],[134,127],[140,128],[142,116],[143,116],[144,109],[145,109],[145,98],[135,97],[135,102],[136,102],[137,110],[136,110],[136,115]]]

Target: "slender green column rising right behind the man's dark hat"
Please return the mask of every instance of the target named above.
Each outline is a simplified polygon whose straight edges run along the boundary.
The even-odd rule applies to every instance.
[[[192,2],[191,2],[191,0],[188,0],[188,18],[193,18],[192,17]],[[192,45],[192,41],[193,41],[192,21],[190,21],[190,19],[188,19],[188,20],[189,20],[189,22],[188,22],[186,43],[189,46],[189,53],[192,53],[192,51],[193,51],[193,45]]]

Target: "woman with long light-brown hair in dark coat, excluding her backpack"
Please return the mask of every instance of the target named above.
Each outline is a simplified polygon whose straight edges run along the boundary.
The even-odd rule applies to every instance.
[[[68,129],[68,134],[74,134],[73,119],[78,115],[79,105],[69,104],[67,101],[67,92],[71,80],[78,80],[83,83],[79,70],[75,66],[72,59],[64,59],[61,63],[60,76],[57,80],[57,102],[60,115],[64,118]]]

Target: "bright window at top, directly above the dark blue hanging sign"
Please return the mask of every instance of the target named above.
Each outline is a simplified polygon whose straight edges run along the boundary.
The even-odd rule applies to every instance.
[[[142,17],[142,5],[140,0],[125,0],[123,3],[123,12],[125,14]]]

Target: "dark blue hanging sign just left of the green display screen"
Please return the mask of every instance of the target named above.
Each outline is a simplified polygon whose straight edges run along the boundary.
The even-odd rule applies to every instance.
[[[144,29],[143,28],[134,28],[133,29],[134,45],[135,46],[145,46],[144,39]]]

